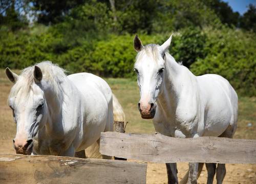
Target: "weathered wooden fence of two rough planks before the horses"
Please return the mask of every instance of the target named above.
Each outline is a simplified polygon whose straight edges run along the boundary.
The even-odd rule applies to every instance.
[[[102,132],[100,152],[156,163],[256,164],[256,140],[219,137]],[[146,183],[146,166],[121,160],[0,154],[0,183]]]

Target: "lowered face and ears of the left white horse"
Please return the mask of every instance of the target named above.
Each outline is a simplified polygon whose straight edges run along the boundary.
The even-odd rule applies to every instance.
[[[25,89],[23,76],[17,76],[9,68],[6,69],[7,77],[14,82],[13,94],[9,97],[9,106],[13,112],[13,119],[17,126],[16,136],[13,139],[16,153],[31,154],[33,137],[46,122],[47,110],[44,91],[41,87],[42,74],[39,67],[34,69],[34,82]],[[19,85],[19,86],[17,86]],[[28,87],[28,86],[27,86]]]

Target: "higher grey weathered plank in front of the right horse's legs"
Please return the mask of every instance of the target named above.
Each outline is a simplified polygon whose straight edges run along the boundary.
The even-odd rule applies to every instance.
[[[256,140],[221,137],[179,139],[160,133],[102,132],[100,152],[145,162],[256,164]]]

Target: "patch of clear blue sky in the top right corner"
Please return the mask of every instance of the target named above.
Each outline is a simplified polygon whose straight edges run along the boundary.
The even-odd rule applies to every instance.
[[[248,9],[249,4],[256,5],[256,0],[223,0],[227,2],[228,5],[233,9],[233,11],[238,11],[240,15],[243,15]]]

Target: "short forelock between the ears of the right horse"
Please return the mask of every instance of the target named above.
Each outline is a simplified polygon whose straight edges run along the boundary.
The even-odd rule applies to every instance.
[[[136,62],[140,62],[143,56],[148,56],[152,58],[153,61],[157,62],[159,59],[160,53],[158,50],[159,45],[157,44],[147,44],[145,45],[141,51],[136,56]]]

